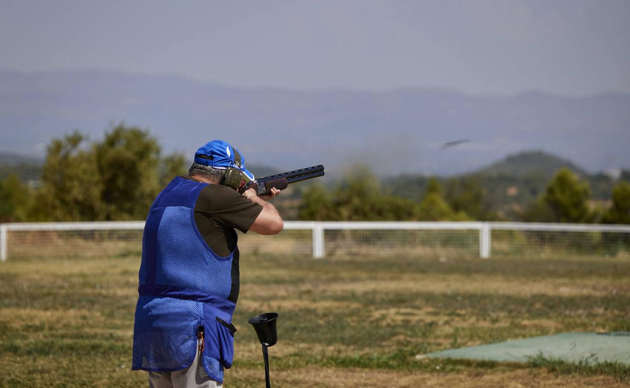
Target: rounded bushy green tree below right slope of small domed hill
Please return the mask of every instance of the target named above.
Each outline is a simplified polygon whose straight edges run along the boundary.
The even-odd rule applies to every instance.
[[[590,189],[569,169],[561,169],[547,185],[544,201],[553,211],[555,222],[587,222]]]

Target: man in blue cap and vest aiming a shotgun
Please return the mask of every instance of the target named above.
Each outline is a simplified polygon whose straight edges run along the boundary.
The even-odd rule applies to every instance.
[[[173,179],[149,209],[142,237],[134,370],[149,387],[221,387],[232,365],[239,292],[236,231],[280,233],[284,224],[246,184],[254,176],[231,145],[210,141],[188,177]]]

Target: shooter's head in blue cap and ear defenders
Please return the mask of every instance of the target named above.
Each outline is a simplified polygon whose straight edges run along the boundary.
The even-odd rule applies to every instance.
[[[254,180],[254,174],[245,168],[245,158],[222,140],[212,140],[200,147],[188,174],[201,175],[237,191]]]

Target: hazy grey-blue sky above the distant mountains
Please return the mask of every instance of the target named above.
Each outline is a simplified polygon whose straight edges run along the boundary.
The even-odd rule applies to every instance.
[[[630,92],[630,1],[0,0],[0,53],[240,86]]]

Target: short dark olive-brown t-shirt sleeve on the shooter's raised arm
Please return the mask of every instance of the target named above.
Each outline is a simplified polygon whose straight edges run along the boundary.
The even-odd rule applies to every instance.
[[[197,198],[195,211],[212,216],[228,228],[246,233],[263,207],[249,201],[230,187],[210,184],[202,189]]]

